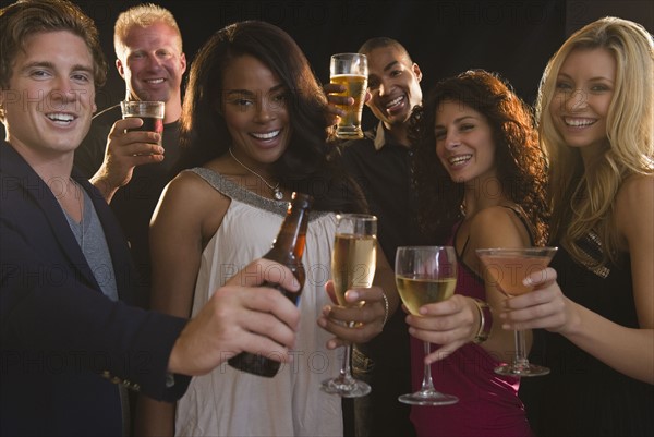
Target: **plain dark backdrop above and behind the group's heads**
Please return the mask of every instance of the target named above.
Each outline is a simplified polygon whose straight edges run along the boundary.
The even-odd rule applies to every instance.
[[[114,66],[113,24],[141,1],[77,0],[100,29],[109,63],[98,109],[124,97]],[[356,51],[370,37],[403,44],[423,71],[423,88],[468,69],[495,71],[528,102],[536,97],[547,60],[574,29],[604,15],[637,21],[654,32],[651,0],[178,0],[154,1],[175,16],[189,63],[219,28],[264,20],[287,31],[304,50],[316,76],[328,81],[329,56]],[[3,1],[3,3],[5,3]],[[185,84],[185,81],[184,81]],[[366,123],[372,116],[366,113]]]

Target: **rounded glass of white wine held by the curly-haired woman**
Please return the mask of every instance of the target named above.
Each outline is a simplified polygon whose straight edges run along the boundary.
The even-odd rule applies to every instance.
[[[421,306],[445,301],[457,288],[457,254],[451,246],[401,246],[396,255],[396,283],[402,303],[415,316]],[[425,356],[429,342],[424,342]],[[398,398],[411,405],[450,405],[459,398],[434,389],[432,368],[424,366],[422,387],[419,391]]]

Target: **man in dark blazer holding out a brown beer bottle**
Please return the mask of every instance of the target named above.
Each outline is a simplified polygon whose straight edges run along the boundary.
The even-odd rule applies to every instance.
[[[135,270],[100,193],[72,170],[106,63],[93,21],[65,0],[0,9],[0,435],[122,435],[124,388],[181,397],[241,351],[288,362],[295,306],[268,260],[192,320],[129,305]],[[290,271],[277,281],[298,284]],[[226,309],[227,308],[227,309]]]

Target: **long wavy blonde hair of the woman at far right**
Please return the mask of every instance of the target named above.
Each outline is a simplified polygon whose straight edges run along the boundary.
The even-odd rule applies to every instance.
[[[616,82],[606,136],[610,144],[591,168],[579,149],[568,147],[549,113],[559,70],[577,49],[603,48],[616,60]],[[536,102],[541,142],[549,155],[550,236],[572,257],[597,266],[616,260],[619,235],[614,198],[633,174],[654,174],[654,44],[640,24],[604,17],[577,31],[549,60]],[[593,260],[579,246],[591,231],[597,233],[603,259]]]

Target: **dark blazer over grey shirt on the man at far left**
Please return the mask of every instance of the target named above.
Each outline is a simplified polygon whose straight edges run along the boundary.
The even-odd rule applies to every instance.
[[[117,384],[174,401],[166,387],[185,319],[130,306],[137,276],[110,208],[73,171],[102,224],[120,300],[106,298],[57,198],[0,142],[0,430],[14,435],[120,435]],[[51,181],[50,181],[51,182]]]

